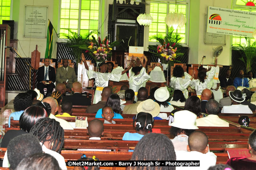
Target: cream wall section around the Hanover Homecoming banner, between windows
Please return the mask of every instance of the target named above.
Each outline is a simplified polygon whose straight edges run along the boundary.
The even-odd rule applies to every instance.
[[[193,0],[191,0],[193,2]],[[191,3],[192,3],[191,2]],[[222,7],[222,8],[231,8],[232,0],[200,0],[200,11],[199,11],[199,39],[198,44],[192,44],[193,42],[189,42],[188,46],[190,48],[189,51],[189,63],[190,64],[199,64],[202,57],[205,55],[206,58],[203,61],[203,64],[212,64],[212,53],[213,48],[217,46],[205,45],[204,44],[204,30],[205,30],[205,18],[204,15],[207,14],[208,6]],[[193,24],[191,22],[190,24]],[[226,46],[223,46],[223,52],[218,57],[217,64],[220,65],[230,65],[231,64],[231,37],[226,35]],[[197,55],[197,56],[196,56]],[[192,59],[193,57],[193,59]]]

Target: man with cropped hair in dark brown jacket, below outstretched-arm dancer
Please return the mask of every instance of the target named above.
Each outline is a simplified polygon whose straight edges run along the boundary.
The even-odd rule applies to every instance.
[[[86,109],[86,113],[97,113],[99,109],[102,109],[105,106],[111,94],[112,89],[110,87],[104,87],[101,94],[101,101],[91,106],[88,106]]]

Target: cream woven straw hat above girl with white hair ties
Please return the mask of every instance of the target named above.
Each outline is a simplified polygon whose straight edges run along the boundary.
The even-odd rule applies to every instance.
[[[156,117],[160,113],[160,106],[152,99],[147,99],[139,103],[137,113],[139,112],[150,113],[153,117]]]

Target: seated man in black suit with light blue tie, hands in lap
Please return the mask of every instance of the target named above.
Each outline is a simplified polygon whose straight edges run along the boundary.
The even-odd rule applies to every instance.
[[[54,82],[56,80],[56,75],[55,75],[55,69],[49,66],[50,60],[45,59],[44,63],[45,63],[44,66],[38,68],[37,89],[39,89],[40,93],[44,95],[45,94],[44,88],[47,88],[46,95],[44,95],[44,96],[47,96],[47,94],[53,92],[53,88],[55,87]]]

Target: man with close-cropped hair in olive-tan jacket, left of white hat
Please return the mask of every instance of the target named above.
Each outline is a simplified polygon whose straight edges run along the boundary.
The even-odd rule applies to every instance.
[[[148,91],[145,87],[141,87],[138,90],[138,101],[134,104],[130,104],[124,107],[123,114],[137,114],[137,107],[140,102],[147,100]]]

